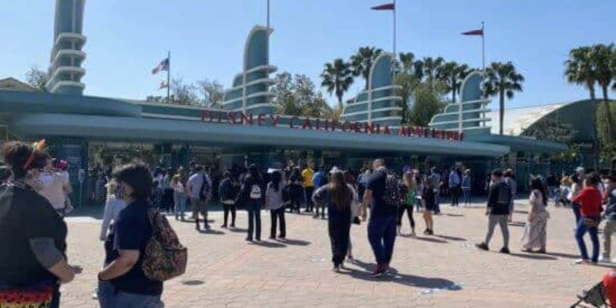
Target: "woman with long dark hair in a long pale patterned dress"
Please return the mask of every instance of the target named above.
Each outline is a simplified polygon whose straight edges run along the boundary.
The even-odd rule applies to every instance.
[[[534,252],[545,253],[548,239],[548,196],[545,186],[538,178],[531,180],[530,189],[530,212],[522,236],[522,251],[532,253],[533,249],[539,249]]]

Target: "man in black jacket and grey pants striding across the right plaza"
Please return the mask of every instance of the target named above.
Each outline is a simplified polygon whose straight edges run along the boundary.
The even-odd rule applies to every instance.
[[[500,225],[501,233],[503,233],[503,248],[501,253],[509,254],[509,228],[507,225],[507,217],[509,216],[509,205],[511,203],[511,188],[503,180],[503,171],[495,169],[492,171],[492,185],[488,192],[488,204],[485,215],[488,216],[488,233],[485,235],[485,241],[476,244],[477,248],[488,250],[490,240],[494,233],[496,224]]]

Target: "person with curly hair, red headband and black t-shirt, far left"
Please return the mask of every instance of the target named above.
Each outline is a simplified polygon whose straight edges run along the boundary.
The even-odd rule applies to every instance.
[[[67,263],[67,225],[33,187],[48,156],[22,142],[2,155],[13,176],[0,186],[0,307],[60,307],[60,284],[81,268]]]

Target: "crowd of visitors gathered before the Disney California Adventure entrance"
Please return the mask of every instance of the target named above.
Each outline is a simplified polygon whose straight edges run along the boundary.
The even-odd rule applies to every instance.
[[[63,216],[71,209],[67,163],[51,158],[40,144],[33,147],[10,142],[3,150],[6,167],[0,168],[4,182],[0,187],[0,245],[11,249],[0,252],[0,306],[11,302],[22,305],[15,307],[59,307],[59,285],[71,282],[81,272],[80,267],[68,264],[66,254],[68,230]],[[246,209],[249,242],[261,241],[262,209],[270,214],[269,238],[281,241],[288,234],[287,210],[326,218],[334,272],[340,272],[344,262],[354,261],[351,226],[365,221],[376,261],[371,275],[383,277],[390,272],[396,238],[403,234],[405,212],[410,227],[407,235],[416,236],[418,224],[413,216],[421,213],[423,234],[429,236],[434,234],[434,215],[440,213],[443,194],[451,196],[452,206],[459,205],[460,193],[464,204],[471,203],[472,172],[460,168],[450,169],[446,177],[436,168],[429,172],[405,168],[399,173],[376,159],[359,174],[338,166],[315,168],[312,161],[301,168],[290,162],[285,168],[262,170],[246,158],[243,168],[230,168],[220,179],[208,173],[208,168],[194,163],[188,170],[153,171],[143,163],[131,163],[119,166],[105,179],[107,198],[99,234],[105,259],[96,290],[101,307],[163,307],[164,279],[153,278],[152,269],[144,263],[151,253],[148,243],[160,228],[152,220],[154,209],[179,221],[190,219],[195,229],[203,232],[211,229],[208,206],[213,201],[220,201],[224,210],[221,228],[235,228],[237,209]],[[616,229],[616,161],[612,171],[602,177],[583,168],[561,180],[550,177],[537,176],[530,181],[522,250],[546,253],[547,208],[553,200],[572,208],[574,238],[581,256],[577,263],[610,262],[610,237]],[[447,191],[443,182],[447,182]],[[500,252],[508,254],[508,224],[517,193],[514,171],[493,170],[487,190],[488,228],[485,240],[476,246],[488,250],[499,225],[504,243]],[[590,233],[591,255],[586,250],[585,233]]]

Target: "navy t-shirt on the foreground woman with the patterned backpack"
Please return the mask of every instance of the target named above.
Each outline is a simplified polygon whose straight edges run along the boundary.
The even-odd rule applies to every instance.
[[[118,258],[120,250],[139,250],[139,260],[126,274],[111,280],[118,291],[144,295],[163,293],[163,282],[155,282],[145,277],[142,269],[145,245],[152,237],[152,225],[148,218],[148,208],[152,205],[146,200],[135,200],[120,212],[113,225],[113,254],[110,262]]]

